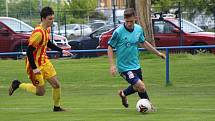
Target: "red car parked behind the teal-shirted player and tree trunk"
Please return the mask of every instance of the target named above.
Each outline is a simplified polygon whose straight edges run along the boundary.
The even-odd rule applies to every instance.
[[[215,45],[215,33],[204,32],[196,25],[182,19],[182,39],[180,42],[180,27],[179,20],[176,18],[152,19],[153,31],[155,36],[155,44],[157,47],[167,46],[194,46],[194,45]],[[99,46],[97,49],[106,49],[108,47],[108,40],[111,38],[113,31],[111,29],[103,33],[99,39]],[[194,49],[191,53],[197,52],[214,52],[214,49]]]

